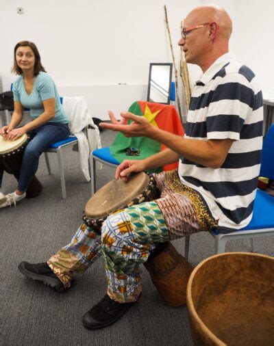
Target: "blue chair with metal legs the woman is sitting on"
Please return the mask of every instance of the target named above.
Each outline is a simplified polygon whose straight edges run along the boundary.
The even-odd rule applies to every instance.
[[[60,101],[61,103],[63,103],[62,96],[60,96]],[[57,154],[58,167],[60,172],[61,189],[62,189],[62,198],[64,200],[66,199],[66,181],[64,178],[64,163],[63,163],[63,157],[62,157],[62,150],[64,148],[67,148],[68,146],[74,146],[77,143],[78,143],[77,137],[70,135],[68,138],[64,139],[63,141],[55,142],[51,144],[51,147],[44,152],[49,175],[51,175],[51,167],[49,165],[48,152],[55,152],[55,154]]]

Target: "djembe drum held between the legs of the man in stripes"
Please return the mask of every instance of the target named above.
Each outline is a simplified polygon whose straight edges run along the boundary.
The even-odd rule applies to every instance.
[[[113,180],[99,189],[88,200],[83,219],[88,226],[101,230],[103,221],[111,213],[159,197],[155,178],[140,172],[132,175],[126,183],[121,179]],[[167,304],[186,304],[186,286],[192,267],[169,241],[160,243],[151,252],[145,267]]]

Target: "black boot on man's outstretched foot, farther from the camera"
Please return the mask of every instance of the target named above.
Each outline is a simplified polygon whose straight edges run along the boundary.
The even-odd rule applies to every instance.
[[[56,276],[47,263],[27,263],[21,262],[18,265],[19,271],[27,278],[41,281],[43,284],[52,287],[56,292],[64,292],[65,287],[62,281]]]

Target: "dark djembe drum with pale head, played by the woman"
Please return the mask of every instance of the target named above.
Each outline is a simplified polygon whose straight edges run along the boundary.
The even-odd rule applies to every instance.
[[[9,174],[14,174],[18,180],[23,159],[23,152],[29,143],[29,137],[25,134],[14,141],[8,141],[0,136],[0,166]],[[26,198],[37,197],[42,191],[42,184],[34,176],[26,191]]]

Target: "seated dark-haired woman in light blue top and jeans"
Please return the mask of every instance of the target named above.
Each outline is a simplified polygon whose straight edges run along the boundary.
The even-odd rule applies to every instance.
[[[12,72],[19,77],[14,82],[14,112],[8,126],[0,130],[5,139],[14,140],[27,133],[32,140],[23,153],[18,187],[0,208],[16,204],[25,198],[25,191],[38,169],[39,157],[54,142],[69,136],[69,119],[62,109],[55,83],[46,73],[40,61],[36,45],[22,41],[14,47]],[[31,122],[17,127],[23,118],[24,108],[30,109]]]

